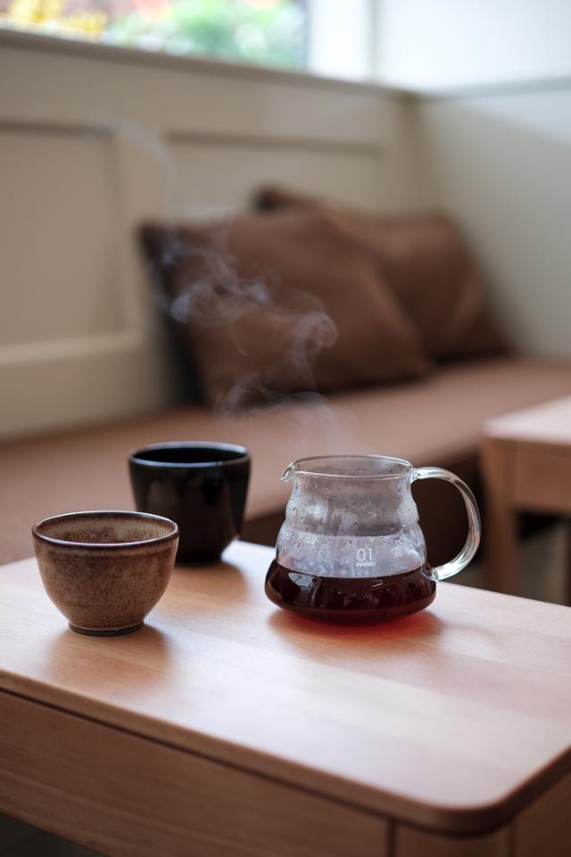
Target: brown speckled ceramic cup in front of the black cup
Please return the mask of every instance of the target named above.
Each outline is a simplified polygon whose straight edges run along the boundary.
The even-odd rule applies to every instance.
[[[178,527],[144,512],[72,512],[32,528],[47,595],[79,634],[141,628],[167,588]]]

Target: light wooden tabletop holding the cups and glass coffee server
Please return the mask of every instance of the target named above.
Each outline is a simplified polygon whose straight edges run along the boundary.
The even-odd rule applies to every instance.
[[[178,568],[145,628],[81,637],[34,559],[0,569],[0,688],[366,810],[450,831],[508,820],[571,770],[571,610],[438,584],[351,628],[263,593],[273,552]]]

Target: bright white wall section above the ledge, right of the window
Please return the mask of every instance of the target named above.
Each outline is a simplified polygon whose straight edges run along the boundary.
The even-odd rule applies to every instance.
[[[377,0],[377,79],[415,90],[571,74],[569,0]]]

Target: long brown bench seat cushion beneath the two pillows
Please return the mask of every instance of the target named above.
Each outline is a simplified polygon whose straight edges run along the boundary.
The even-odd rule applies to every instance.
[[[279,521],[289,495],[289,486],[279,477],[294,458],[385,453],[417,465],[464,468],[461,475],[466,475],[468,464],[473,471],[484,420],[567,394],[571,363],[510,357],[457,364],[429,379],[335,395],[328,402],[294,401],[275,410],[232,416],[193,406],[4,443],[0,562],[33,553],[30,527],[47,515],[133,508],[127,455],[139,445],[218,440],[247,446],[253,468],[245,536],[262,540],[256,522]],[[450,528],[450,522],[443,521],[443,526]]]

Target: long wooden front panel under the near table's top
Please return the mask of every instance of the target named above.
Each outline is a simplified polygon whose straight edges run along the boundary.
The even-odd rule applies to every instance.
[[[386,857],[370,813],[0,692],[0,801],[113,857]]]

